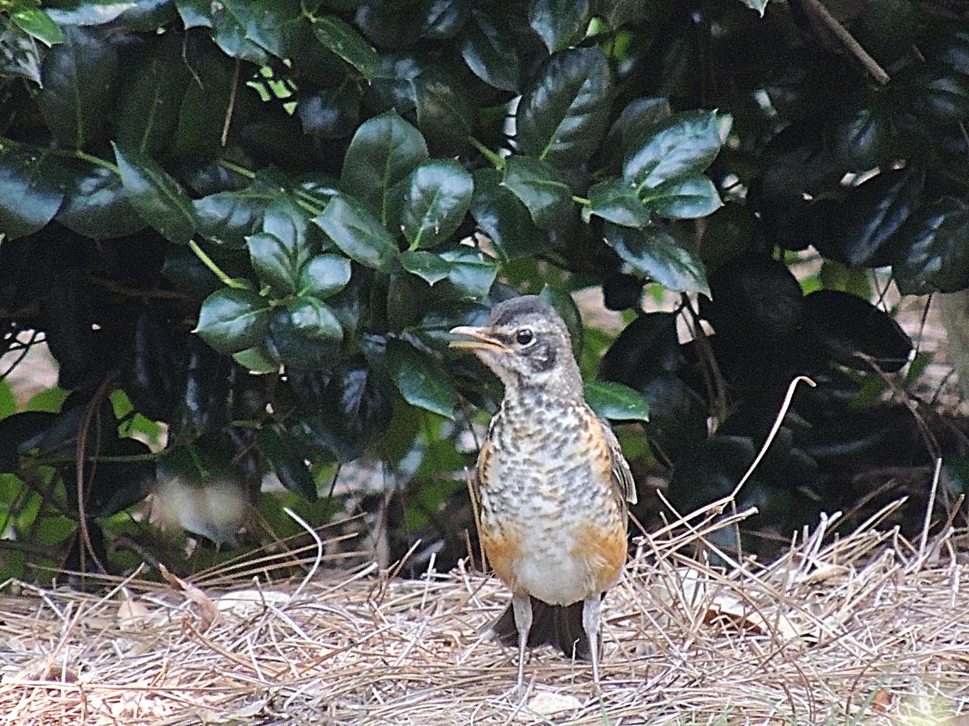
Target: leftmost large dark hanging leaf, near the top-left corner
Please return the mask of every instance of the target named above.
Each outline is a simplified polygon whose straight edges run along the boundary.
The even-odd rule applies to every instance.
[[[113,103],[116,75],[114,46],[85,28],[64,27],[64,43],[50,48],[44,60],[44,86],[37,94],[37,105],[57,140],[81,149],[97,136]]]

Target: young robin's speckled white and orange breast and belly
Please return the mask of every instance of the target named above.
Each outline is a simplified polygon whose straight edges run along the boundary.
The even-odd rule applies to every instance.
[[[495,414],[481,485],[482,538],[513,590],[566,605],[618,578],[625,513],[603,467],[600,427],[584,401],[527,388]]]

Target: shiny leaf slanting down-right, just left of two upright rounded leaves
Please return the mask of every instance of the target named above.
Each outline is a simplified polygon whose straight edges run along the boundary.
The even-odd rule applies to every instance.
[[[390,272],[397,259],[391,233],[359,202],[337,195],[313,220],[344,255],[381,272]]]

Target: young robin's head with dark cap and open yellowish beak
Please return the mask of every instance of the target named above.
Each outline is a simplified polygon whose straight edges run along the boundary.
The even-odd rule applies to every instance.
[[[569,329],[536,295],[500,303],[484,325],[460,325],[451,332],[463,336],[451,347],[473,350],[501,378],[507,393],[541,387],[558,395],[581,395]]]

